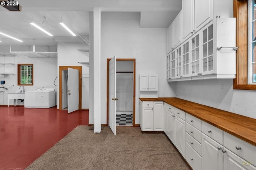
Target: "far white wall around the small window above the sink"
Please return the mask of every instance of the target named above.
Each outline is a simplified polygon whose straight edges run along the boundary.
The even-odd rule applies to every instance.
[[[8,105],[8,95],[10,92],[18,92],[20,91],[18,86],[18,77],[17,77],[17,64],[33,64],[34,71],[34,85],[26,85],[25,91],[32,91],[32,89],[37,87],[44,88],[55,88],[57,91],[58,81],[54,80],[57,76],[57,58],[36,58],[36,57],[27,57],[21,54],[15,53],[15,56],[10,55],[10,46],[0,46],[0,73],[9,72],[15,73],[15,75],[0,75],[0,80],[4,80],[4,87],[11,87],[8,90],[4,90],[3,88],[0,91],[4,91],[0,93],[0,105]],[[4,55],[5,56],[4,56]],[[4,63],[14,63],[14,65],[5,65]],[[2,87],[2,85],[0,85]],[[57,98],[57,97],[56,97]],[[17,105],[24,105],[24,102],[18,101]],[[10,105],[14,105],[14,100],[10,101]]]

